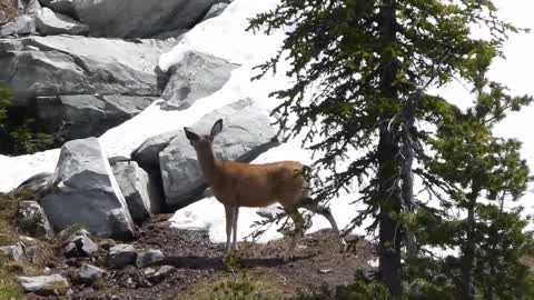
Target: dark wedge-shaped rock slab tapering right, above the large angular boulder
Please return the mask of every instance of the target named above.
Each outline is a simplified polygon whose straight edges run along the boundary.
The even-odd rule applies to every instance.
[[[154,97],[140,96],[52,96],[38,97],[34,106],[38,124],[57,139],[69,141],[99,137],[134,118],[147,108]]]

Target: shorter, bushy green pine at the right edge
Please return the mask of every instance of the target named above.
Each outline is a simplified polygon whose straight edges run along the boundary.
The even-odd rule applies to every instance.
[[[495,280],[497,272],[504,284],[487,286],[487,294],[495,293],[491,290],[494,287],[501,286],[500,291],[504,291],[506,286],[525,281],[527,268],[518,260],[532,243],[530,233],[524,232],[526,220],[517,211],[504,210],[504,202],[523,196],[530,180],[526,161],[520,156],[521,142],[496,138],[492,129],[508,111],[517,111],[533,99],[511,97],[504,87],[486,78],[494,57],[488,44],[467,66],[464,77],[473,84],[474,107],[465,112],[452,109],[442,116],[429,140],[436,153],[425,161],[434,180],[443,180],[442,186],[447,187],[449,202],[444,207],[466,212],[462,221],[448,217],[452,221],[444,223],[455,230],[443,230],[449,234],[445,237],[447,246],[461,249],[462,298],[466,300],[475,299],[477,290]],[[445,210],[441,214],[447,216]],[[497,270],[500,260],[505,262]],[[505,266],[515,271],[514,278],[506,277]],[[511,287],[508,292],[516,290]]]

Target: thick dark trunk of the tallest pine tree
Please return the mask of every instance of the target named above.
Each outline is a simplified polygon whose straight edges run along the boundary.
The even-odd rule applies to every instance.
[[[380,7],[380,34],[383,47],[387,48],[396,41],[396,0],[383,0]],[[390,53],[389,51],[384,51]],[[386,101],[398,100],[397,90],[394,87],[397,74],[396,58],[384,54],[380,61],[380,92]],[[398,147],[394,132],[388,129],[388,120],[394,117],[384,116],[379,129],[378,141],[378,201],[379,212],[379,273],[384,284],[389,290],[393,299],[402,296],[400,284],[400,238],[402,232],[395,216],[400,212],[400,198],[395,179],[398,178],[398,163],[395,157]]]

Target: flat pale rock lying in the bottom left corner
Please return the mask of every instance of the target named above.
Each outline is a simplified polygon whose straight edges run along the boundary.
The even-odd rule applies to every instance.
[[[26,292],[34,292],[40,296],[65,296],[71,293],[70,284],[60,274],[17,277]]]

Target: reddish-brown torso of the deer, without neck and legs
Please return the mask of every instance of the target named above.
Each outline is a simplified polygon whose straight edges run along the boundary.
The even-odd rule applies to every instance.
[[[280,202],[291,207],[303,197],[303,164],[297,161],[265,164],[219,161],[218,169],[221,178],[212,189],[224,204],[266,207]]]

